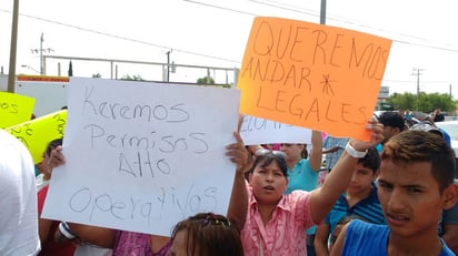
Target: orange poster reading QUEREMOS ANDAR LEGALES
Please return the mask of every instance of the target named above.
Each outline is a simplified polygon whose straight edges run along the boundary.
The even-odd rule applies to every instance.
[[[239,73],[240,112],[369,140],[391,40],[297,20],[256,18]]]

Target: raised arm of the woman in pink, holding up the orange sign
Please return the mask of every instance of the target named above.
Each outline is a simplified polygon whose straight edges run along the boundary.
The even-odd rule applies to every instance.
[[[376,121],[369,121],[369,129],[372,130],[370,142],[362,142],[351,139],[348,143],[357,152],[365,152],[384,139],[382,125]],[[351,181],[358,158],[344,151],[332,172],[328,174],[321,187],[311,192],[310,212],[315,223],[320,223],[331,211],[340,194],[347,188]]]

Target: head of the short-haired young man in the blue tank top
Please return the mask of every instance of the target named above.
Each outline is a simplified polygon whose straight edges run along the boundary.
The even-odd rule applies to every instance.
[[[378,197],[392,234],[436,232],[442,209],[456,203],[455,158],[445,140],[405,131],[384,146]]]

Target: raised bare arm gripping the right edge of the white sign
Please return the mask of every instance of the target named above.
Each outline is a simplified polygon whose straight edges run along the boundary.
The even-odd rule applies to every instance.
[[[237,164],[227,217],[236,222],[237,228],[241,231],[245,226],[248,211],[248,193],[243,175],[248,167],[248,152],[245,149],[240,134],[235,132],[233,136],[236,137],[237,143],[226,147],[226,155],[229,156],[230,161]]]

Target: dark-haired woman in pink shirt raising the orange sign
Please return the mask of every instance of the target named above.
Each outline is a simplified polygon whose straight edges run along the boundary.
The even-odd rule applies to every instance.
[[[350,140],[322,186],[311,192],[296,190],[285,194],[289,183],[285,154],[257,154],[249,184],[243,176],[236,176],[232,193],[237,191],[240,196],[229,204],[229,208],[245,213],[239,225],[246,255],[307,255],[306,229],[326,217],[350,183],[358,158],[382,140],[380,124],[370,121],[368,129],[372,130],[370,142]]]

